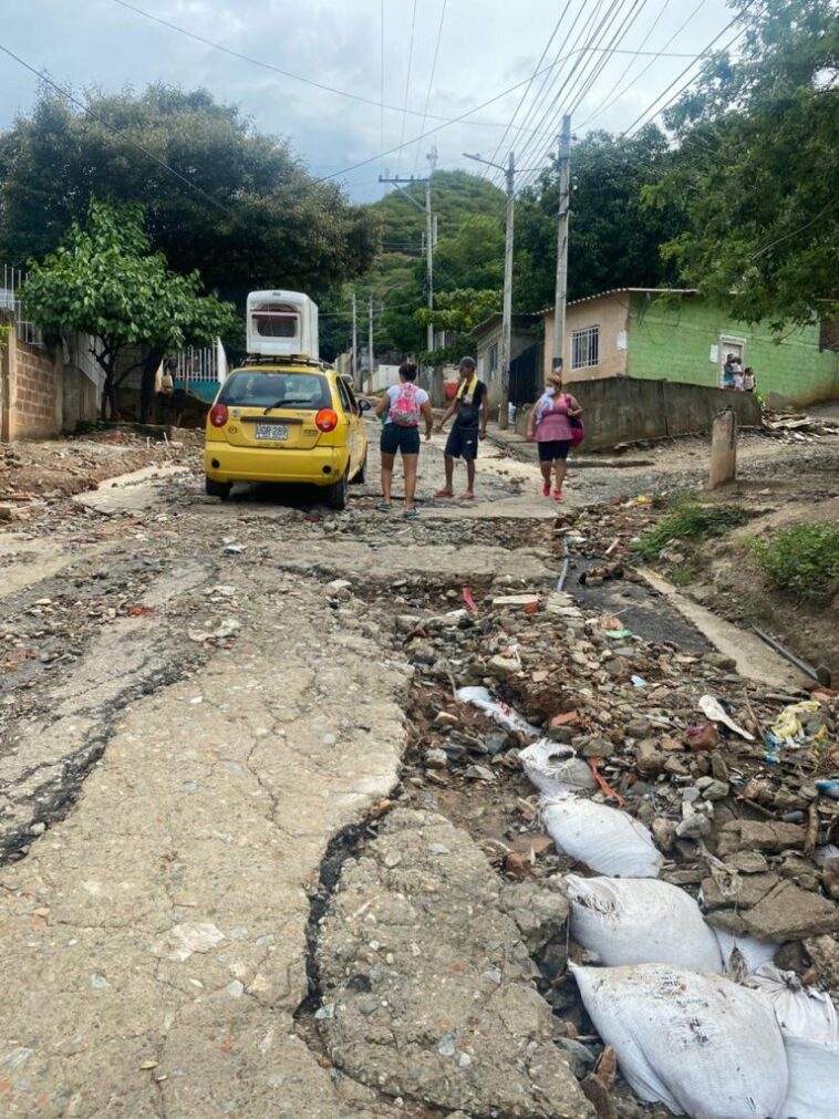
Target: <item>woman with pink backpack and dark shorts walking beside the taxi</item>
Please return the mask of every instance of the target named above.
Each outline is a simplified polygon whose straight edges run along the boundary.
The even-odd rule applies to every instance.
[[[413,361],[399,366],[399,384],[392,385],[376,405],[376,416],[384,421],[381,429],[381,500],[376,506],[379,513],[389,513],[390,487],[394,479],[394,462],[402,452],[405,471],[405,508],[403,517],[418,517],[414,502],[416,493],[416,469],[420,462],[420,421],[425,421],[425,439],[431,439],[434,430],[434,413],[431,399],[416,382],[417,369]]]

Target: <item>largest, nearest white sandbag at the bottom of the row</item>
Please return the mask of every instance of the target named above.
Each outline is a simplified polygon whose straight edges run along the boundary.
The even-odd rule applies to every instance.
[[[642,1100],[691,1119],[780,1115],[784,1043],[755,991],[662,963],[572,971],[597,1033]]]

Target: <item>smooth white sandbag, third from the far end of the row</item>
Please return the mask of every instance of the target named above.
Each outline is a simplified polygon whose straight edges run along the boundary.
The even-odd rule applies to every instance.
[[[560,853],[600,874],[618,878],[657,878],[663,855],[649,830],[619,808],[582,797],[548,801],[543,819]]]

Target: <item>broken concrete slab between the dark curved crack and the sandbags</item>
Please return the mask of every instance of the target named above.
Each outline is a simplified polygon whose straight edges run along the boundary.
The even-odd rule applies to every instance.
[[[321,997],[336,1013],[319,1026],[337,1066],[388,1096],[468,1115],[593,1116],[554,1044],[520,931],[544,940],[567,903],[537,902],[535,891],[500,891],[475,844],[442,817],[387,817],[345,864],[321,924]]]

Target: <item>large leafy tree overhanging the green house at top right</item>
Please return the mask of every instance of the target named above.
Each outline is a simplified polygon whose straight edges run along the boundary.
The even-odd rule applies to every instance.
[[[717,55],[669,114],[680,144],[649,201],[687,199],[667,254],[692,286],[777,329],[839,314],[839,19],[832,0],[730,0]]]

